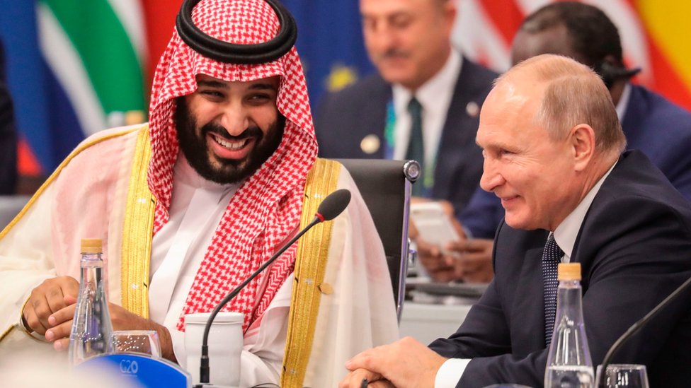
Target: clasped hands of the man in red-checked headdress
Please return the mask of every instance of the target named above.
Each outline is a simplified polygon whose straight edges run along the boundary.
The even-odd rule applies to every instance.
[[[45,336],[47,341],[53,343],[56,351],[67,350],[78,293],[79,282],[75,278],[59,276],[46,279],[31,291],[24,305],[22,319],[25,327]],[[110,302],[108,312],[113,330],[158,331],[161,353],[165,358],[175,360],[168,329]]]

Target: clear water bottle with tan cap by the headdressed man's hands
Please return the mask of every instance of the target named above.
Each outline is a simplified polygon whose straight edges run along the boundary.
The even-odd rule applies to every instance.
[[[81,278],[72,332],[69,335],[69,362],[77,365],[94,355],[108,353],[113,324],[103,280],[103,244],[100,239],[81,240]]]

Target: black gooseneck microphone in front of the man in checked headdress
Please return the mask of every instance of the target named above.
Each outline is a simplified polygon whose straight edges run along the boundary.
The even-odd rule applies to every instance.
[[[202,336],[202,357],[200,359],[200,369],[199,369],[199,382],[200,384],[195,385],[196,388],[202,387],[202,384],[208,384],[209,383],[209,346],[207,345],[209,341],[209,331],[211,329],[211,324],[214,322],[214,319],[216,315],[221,311],[223,306],[225,306],[232,298],[235,298],[235,295],[240,293],[240,291],[249,284],[249,282],[252,281],[253,278],[256,278],[258,274],[261,274],[261,271],[266,269],[275,259],[278,259],[283,252],[285,252],[286,249],[288,249],[291,245],[293,245],[297,239],[302,237],[305,233],[307,233],[307,230],[312,229],[312,227],[318,223],[323,223],[324,221],[331,221],[333,218],[336,218],[339,214],[343,213],[345,210],[345,207],[348,206],[348,203],[350,202],[350,191],[347,189],[339,189],[336,190],[335,192],[329,194],[326,196],[324,201],[321,201],[321,204],[319,204],[319,208],[316,209],[316,213],[314,214],[314,219],[312,222],[309,223],[304,229],[300,230],[295,237],[292,237],[290,241],[286,242],[281,249],[278,250],[270,259],[268,259],[264,264],[262,264],[256,271],[254,271],[253,274],[249,276],[249,278],[246,278],[244,282],[242,282],[239,286],[237,286],[234,290],[232,290],[228,295],[223,298],[218,305],[214,308],[214,310],[211,312],[209,319],[206,322],[206,326],[204,327],[204,336]]]

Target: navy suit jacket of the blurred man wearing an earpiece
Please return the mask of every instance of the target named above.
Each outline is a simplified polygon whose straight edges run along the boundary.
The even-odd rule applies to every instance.
[[[691,113],[646,88],[631,89],[622,120],[627,148],[643,151],[691,201]],[[503,217],[497,196],[478,188],[459,219],[474,237],[492,238]]]

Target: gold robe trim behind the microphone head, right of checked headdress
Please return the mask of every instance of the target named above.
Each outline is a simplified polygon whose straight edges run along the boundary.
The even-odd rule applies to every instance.
[[[341,165],[333,160],[316,160],[312,169],[309,170],[305,183],[300,228],[312,222],[321,200],[336,189],[340,171]],[[319,286],[324,281],[332,225],[333,223],[327,221],[314,226],[297,243],[295,280],[290,298],[288,331],[280,381],[280,386],[283,388],[302,387],[307,372],[316,319],[319,314],[321,299]]]

